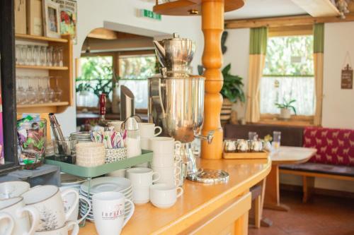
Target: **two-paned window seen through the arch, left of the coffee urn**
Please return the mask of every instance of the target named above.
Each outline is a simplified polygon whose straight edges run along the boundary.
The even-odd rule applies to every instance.
[[[97,107],[101,92],[111,100],[115,71],[119,85],[127,86],[135,95],[135,108],[147,109],[147,78],[155,73],[155,65],[156,56],[151,51],[82,56],[76,78],[76,106]]]

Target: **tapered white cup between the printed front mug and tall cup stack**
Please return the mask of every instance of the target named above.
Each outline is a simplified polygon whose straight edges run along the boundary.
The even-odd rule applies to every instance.
[[[154,176],[156,179],[153,180]],[[133,203],[149,203],[149,187],[159,180],[159,174],[149,168],[137,167],[127,170],[127,178],[132,181]]]

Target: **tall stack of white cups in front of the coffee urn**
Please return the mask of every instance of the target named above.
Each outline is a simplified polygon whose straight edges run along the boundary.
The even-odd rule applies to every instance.
[[[154,137],[149,139],[149,150],[152,150],[152,170],[159,173],[156,183],[179,186],[180,179],[176,175],[181,174],[181,167],[176,167],[175,148],[180,148],[181,142],[169,137]],[[178,159],[177,159],[178,160]]]

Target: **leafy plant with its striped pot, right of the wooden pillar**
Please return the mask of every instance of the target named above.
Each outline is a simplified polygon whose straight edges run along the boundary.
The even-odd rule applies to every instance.
[[[231,64],[228,64],[222,69],[222,76],[224,77],[224,85],[222,86],[221,94],[224,98],[222,103],[222,121],[230,119],[232,113],[232,104],[240,101],[245,102],[244,83],[240,76],[232,75],[230,73]]]

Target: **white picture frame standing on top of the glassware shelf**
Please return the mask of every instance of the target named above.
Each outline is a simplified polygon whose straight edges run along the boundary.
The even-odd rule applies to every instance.
[[[42,4],[45,37],[60,37],[59,4],[51,0],[43,0]]]

